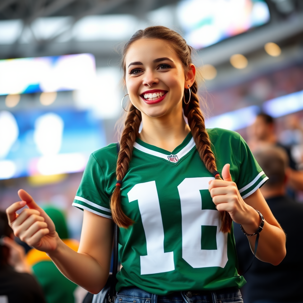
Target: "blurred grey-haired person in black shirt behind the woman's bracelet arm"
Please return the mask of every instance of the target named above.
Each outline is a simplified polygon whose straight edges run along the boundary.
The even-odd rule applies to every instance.
[[[303,205],[285,196],[287,155],[281,148],[267,147],[257,151],[255,158],[269,177],[260,190],[287,235],[287,253],[277,266],[255,259],[244,275],[247,284],[241,293],[248,303],[302,302]],[[252,252],[240,225],[234,224],[234,234],[241,273],[248,268]]]

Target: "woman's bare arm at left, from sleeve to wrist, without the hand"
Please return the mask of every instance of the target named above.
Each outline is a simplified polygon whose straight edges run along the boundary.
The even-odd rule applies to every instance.
[[[78,252],[60,238],[48,255],[66,278],[97,294],[104,287],[112,256],[112,220],[84,210]]]

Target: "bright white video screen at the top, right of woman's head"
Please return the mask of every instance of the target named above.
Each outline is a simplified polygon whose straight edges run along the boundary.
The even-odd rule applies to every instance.
[[[183,0],[177,18],[189,45],[200,49],[264,25],[270,13],[263,0]]]

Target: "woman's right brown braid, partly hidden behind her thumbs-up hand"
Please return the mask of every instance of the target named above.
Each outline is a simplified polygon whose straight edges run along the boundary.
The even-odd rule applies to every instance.
[[[217,180],[222,180],[217,172],[217,165],[215,155],[211,149],[211,142],[208,132],[205,128],[205,121],[202,115],[199,99],[197,95],[198,85],[195,81],[191,86],[191,99],[188,104],[183,102],[184,115],[187,117],[188,125],[191,129],[192,136],[195,140],[198,153],[201,160],[205,164],[208,171],[210,171]],[[187,97],[186,90],[184,92],[185,98]],[[186,99],[188,100],[188,98]],[[231,231],[231,217],[227,211],[222,211],[221,214],[221,228],[220,231],[227,233]]]

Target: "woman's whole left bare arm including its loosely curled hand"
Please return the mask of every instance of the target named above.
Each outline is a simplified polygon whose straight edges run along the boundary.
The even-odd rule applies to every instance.
[[[112,255],[112,220],[84,211],[78,252],[65,245],[55,225],[26,191],[6,210],[14,234],[28,245],[45,251],[68,279],[92,293],[105,285]],[[27,205],[20,215],[18,209]]]

